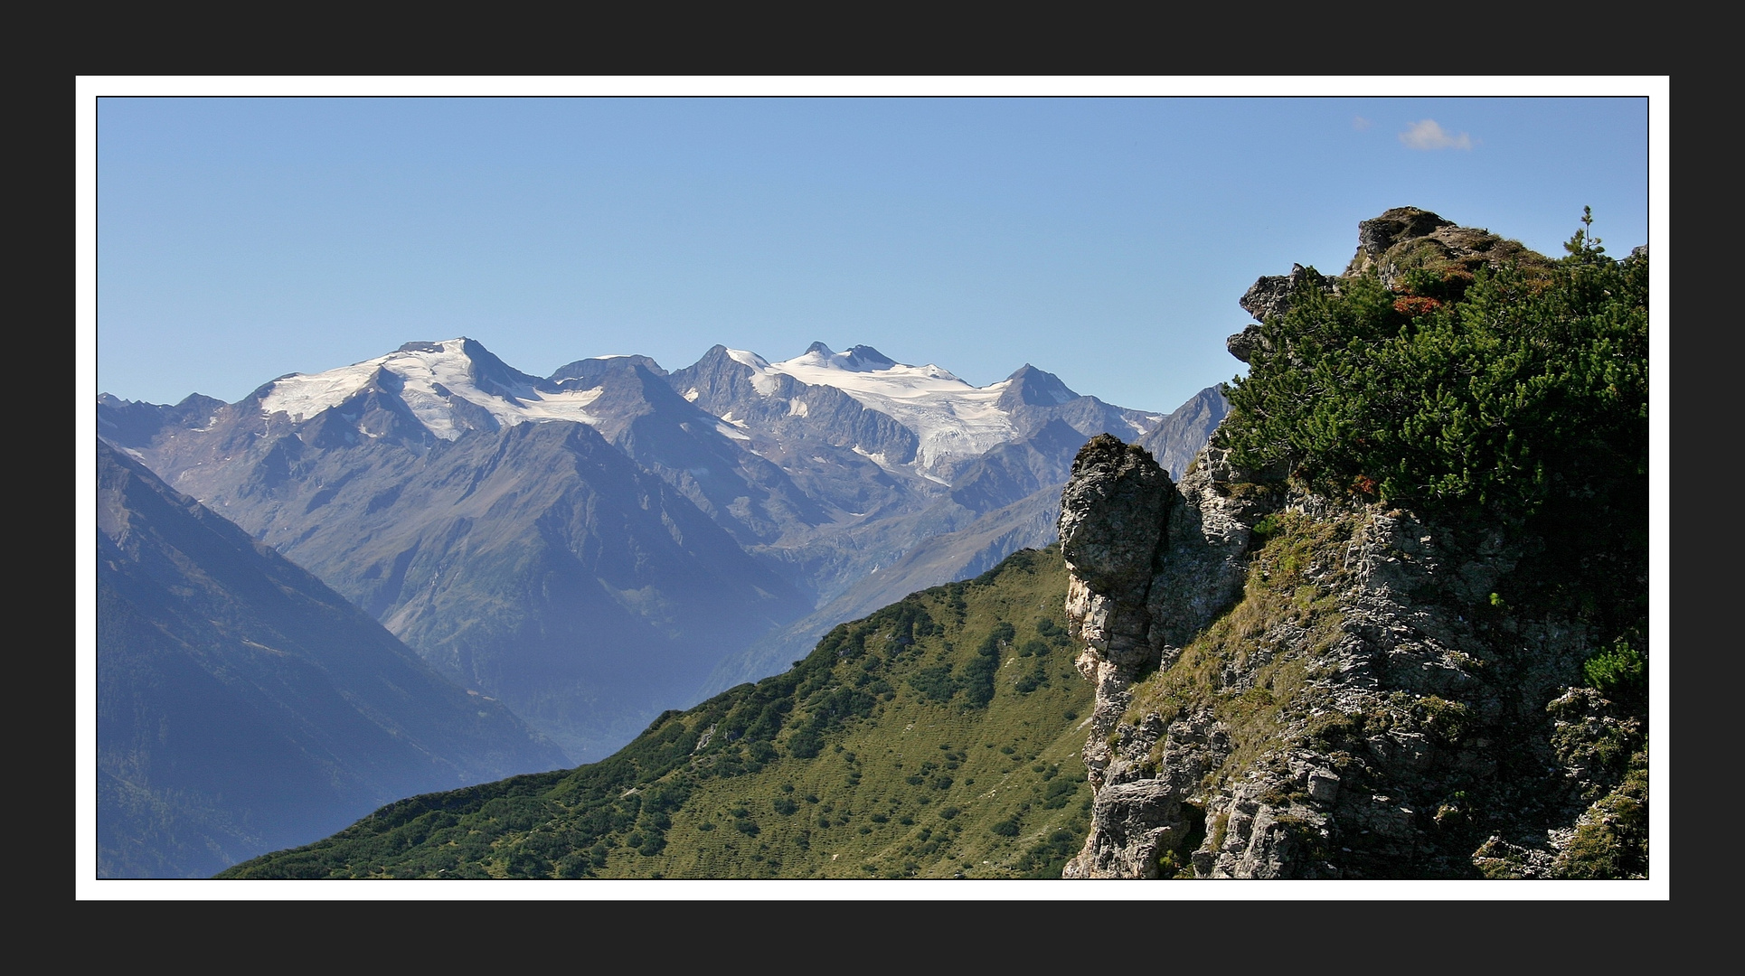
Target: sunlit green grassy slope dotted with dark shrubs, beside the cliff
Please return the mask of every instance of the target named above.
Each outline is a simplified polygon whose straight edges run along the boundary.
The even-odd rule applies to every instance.
[[[574,770],[414,796],[223,878],[1023,878],[1084,842],[1057,547],[843,624]]]

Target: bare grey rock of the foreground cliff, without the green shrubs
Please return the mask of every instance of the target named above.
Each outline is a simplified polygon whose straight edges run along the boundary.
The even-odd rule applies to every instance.
[[[1345,275],[1260,279],[1242,305],[1269,329],[1230,350],[1305,288],[1461,286],[1492,258],[1550,267],[1387,211]],[[1059,528],[1096,800],[1064,877],[1644,877],[1646,697],[1591,687],[1593,613],[1499,596],[1544,539],[1286,474],[1216,439],[1180,481],[1110,436],[1078,453]]]

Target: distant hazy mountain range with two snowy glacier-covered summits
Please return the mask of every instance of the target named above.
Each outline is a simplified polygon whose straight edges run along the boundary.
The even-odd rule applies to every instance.
[[[469,338],[237,403],[101,396],[99,437],[503,701],[569,762],[778,673],[832,626],[1054,537],[1096,434],[1187,458],[1171,415],[1024,366],[974,387],[857,345],[522,373]]]

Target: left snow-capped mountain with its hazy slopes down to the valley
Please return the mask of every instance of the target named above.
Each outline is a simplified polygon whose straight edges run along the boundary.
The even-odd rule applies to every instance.
[[[471,340],[407,343],[211,415],[166,415],[134,450],[588,760],[695,702],[722,655],[808,610],[602,437],[597,427],[656,465],[750,457],[647,378],[625,363],[581,389],[513,371]]]

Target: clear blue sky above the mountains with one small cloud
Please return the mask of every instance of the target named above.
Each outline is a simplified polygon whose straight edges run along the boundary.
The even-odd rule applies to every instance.
[[[105,98],[98,390],[822,340],[1173,410],[1241,369],[1255,277],[1344,270],[1359,220],[1560,254],[1591,206],[1621,256],[1647,164],[1646,98]]]

